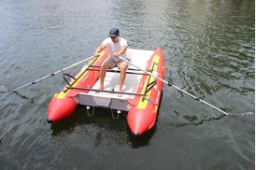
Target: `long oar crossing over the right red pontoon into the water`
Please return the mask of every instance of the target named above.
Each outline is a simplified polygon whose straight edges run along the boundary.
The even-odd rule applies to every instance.
[[[167,84],[168,86],[174,87],[174,88],[177,89],[178,91],[183,92],[183,93],[185,93],[185,94],[191,96],[193,99],[195,99],[195,100],[197,100],[197,101],[200,101],[200,102],[206,104],[207,106],[210,106],[210,107],[212,107],[212,108],[215,108],[216,110],[220,111],[221,113],[223,113],[223,114],[225,114],[225,115],[229,115],[227,112],[221,110],[220,108],[218,108],[218,107],[216,107],[216,106],[213,106],[213,105],[207,103],[206,101],[204,101],[204,100],[202,100],[202,99],[199,99],[198,97],[194,96],[194,95],[193,95],[192,93],[190,93],[190,92],[183,91],[182,89],[178,88],[178,87],[175,86],[174,84],[171,84],[170,82],[164,80],[163,78],[159,78],[159,77],[157,77],[156,75],[153,75],[153,74],[149,73],[147,70],[145,70],[145,69],[143,69],[143,68],[140,68],[139,66],[137,66],[137,65],[135,65],[135,64],[132,64],[130,61],[124,59],[123,57],[120,56],[119,58],[121,58],[121,60],[125,61],[127,64],[131,64],[131,65],[135,66],[137,69],[140,69],[141,71],[147,73],[147,74],[150,75],[151,77],[154,77],[154,78],[157,78],[157,79],[161,80],[162,82],[164,82],[164,83]]]

